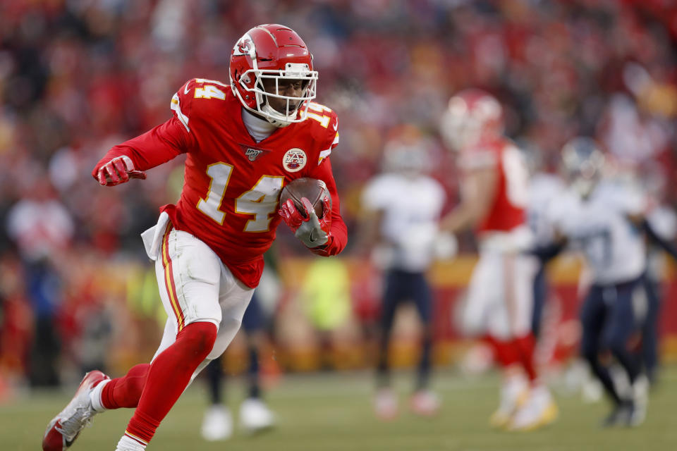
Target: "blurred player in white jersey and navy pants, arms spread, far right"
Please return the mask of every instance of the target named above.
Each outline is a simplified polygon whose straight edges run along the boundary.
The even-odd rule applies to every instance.
[[[576,137],[562,149],[569,190],[553,206],[555,254],[565,245],[583,251],[592,285],[580,312],[581,353],[614,402],[604,426],[635,426],[644,420],[646,385],[633,342],[640,338],[646,307],[638,292],[646,268],[642,233],[645,196],[634,185],[604,178],[605,157],[594,140]],[[603,359],[610,352],[632,390],[623,393]]]

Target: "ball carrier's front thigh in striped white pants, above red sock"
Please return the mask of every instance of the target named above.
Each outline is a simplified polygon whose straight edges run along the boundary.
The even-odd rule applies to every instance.
[[[221,266],[219,257],[197,237],[181,230],[165,233],[155,273],[177,333],[196,321],[221,323]]]

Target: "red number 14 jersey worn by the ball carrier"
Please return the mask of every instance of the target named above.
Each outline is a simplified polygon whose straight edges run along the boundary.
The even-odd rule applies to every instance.
[[[255,142],[242,120],[243,106],[231,88],[193,79],[174,94],[173,117],[113,147],[97,163],[126,155],[142,171],[187,154],[181,198],[165,205],[173,226],[195,235],[216,252],[245,285],[258,285],[263,253],[275,239],[284,185],[300,177],[323,180],[331,193],[331,235],[317,254],[338,254],[348,240],[339,211],[329,154],[338,144],[338,118],[310,104],[307,119],[276,129]]]

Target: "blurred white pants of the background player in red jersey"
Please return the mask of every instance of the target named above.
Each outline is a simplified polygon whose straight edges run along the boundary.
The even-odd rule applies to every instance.
[[[516,252],[480,252],[463,311],[466,333],[488,333],[499,340],[530,333],[536,271],[533,257]]]

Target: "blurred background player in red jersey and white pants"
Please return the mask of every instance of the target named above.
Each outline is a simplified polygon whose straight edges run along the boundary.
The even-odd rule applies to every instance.
[[[528,170],[520,151],[503,136],[501,104],[478,89],[449,100],[441,135],[455,152],[461,204],[442,218],[441,230],[474,228],[480,259],[472,273],[463,326],[484,334],[504,379],[492,426],[511,431],[539,428],[557,407],[534,365],[533,278],[537,262],[523,253],[532,242],[527,226]]]

